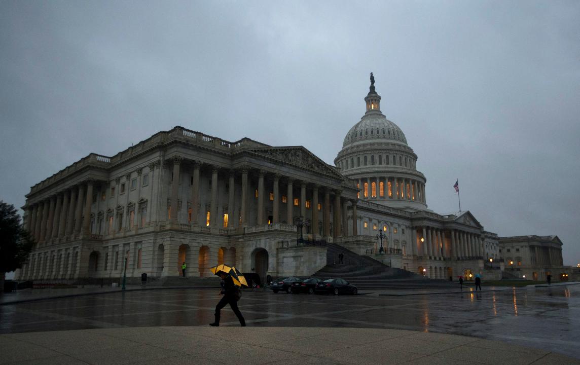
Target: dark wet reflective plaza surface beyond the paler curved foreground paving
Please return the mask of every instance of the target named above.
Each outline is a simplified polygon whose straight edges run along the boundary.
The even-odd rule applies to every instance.
[[[115,292],[0,306],[0,333],[207,326],[218,289]],[[580,359],[580,285],[388,296],[245,291],[248,326],[397,328],[474,336]],[[239,326],[229,306],[222,326]]]

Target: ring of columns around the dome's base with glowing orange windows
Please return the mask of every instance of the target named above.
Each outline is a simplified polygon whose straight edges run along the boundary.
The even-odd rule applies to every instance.
[[[365,185],[365,183],[367,185]],[[383,185],[383,194],[380,194],[381,183]],[[373,194],[373,186],[375,194]],[[407,178],[397,178],[390,176],[376,176],[369,178],[359,178],[358,187],[362,192],[360,198],[388,198],[414,200],[426,203],[425,200],[425,183]]]

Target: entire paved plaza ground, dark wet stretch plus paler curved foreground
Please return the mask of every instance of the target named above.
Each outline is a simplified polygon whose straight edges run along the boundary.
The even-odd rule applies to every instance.
[[[580,286],[436,295],[215,289],[0,305],[0,364],[580,364]],[[50,332],[41,332],[50,331]]]

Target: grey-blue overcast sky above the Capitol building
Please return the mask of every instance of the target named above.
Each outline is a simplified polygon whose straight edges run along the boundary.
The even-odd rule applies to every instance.
[[[430,209],[580,262],[580,2],[0,1],[0,199],[176,125],[333,163],[365,111]]]

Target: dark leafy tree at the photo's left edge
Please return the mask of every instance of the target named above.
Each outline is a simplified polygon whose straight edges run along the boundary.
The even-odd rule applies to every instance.
[[[5,274],[22,267],[33,245],[34,240],[20,223],[14,205],[0,200],[0,295]]]

